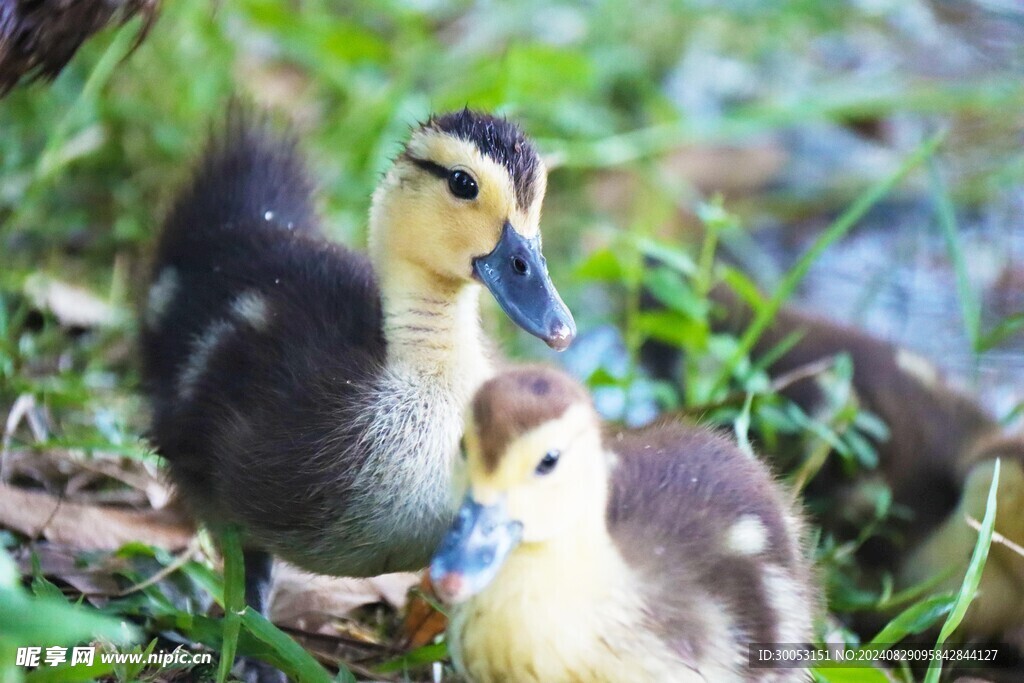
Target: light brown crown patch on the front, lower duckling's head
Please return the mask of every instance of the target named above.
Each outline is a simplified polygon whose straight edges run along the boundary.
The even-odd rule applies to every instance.
[[[473,422],[484,467],[498,469],[510,441],[579,403],[592,405],[587,390],[565,373],[546,366],[519,367],[488,380],[473,398]]]

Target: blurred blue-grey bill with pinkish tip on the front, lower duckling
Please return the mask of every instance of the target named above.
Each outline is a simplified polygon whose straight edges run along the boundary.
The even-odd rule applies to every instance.
[[[443,602],[463,602],[494,581],[519,545],[522,524],[512,521],[504,502],[483,506],[467,495],[430,561],[430,583]]]

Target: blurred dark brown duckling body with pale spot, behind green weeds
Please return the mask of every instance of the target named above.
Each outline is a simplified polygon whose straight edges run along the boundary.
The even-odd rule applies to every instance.
[[[722,313],[714,324],[718,331],[739,334],[750,324],[750,306],[730,290],[718,287],[711,298]],[[956,506],[963,485],[957,462],[979,438],[997,432],[998,425],[976,400],[950,386],[927,359],[853,327],[794,307],[779,310],[752,355],[764,356],[793,335],[799,336],[796,344],[768,367],[773,378],[847,353],[853,365],[857,400],[888,427],[889,437],[873,442],[879,455],[877,470],[858,481],[885,483],[892,490],[893,504],[911,514],[894,518],[893,533],[873,537],[859,547],[857,555],[861,566],[871,573],[895,571],[907,548],[931,532]],[[799,379],[781,393],[809,414],[817,412],[824,400],[814,377]],[[857,492],[857,481],[833,460],[808,493],[831,502],[821,519],[826,528],[841,538],[854,538],[876,514],[873,503],[864,501]]]

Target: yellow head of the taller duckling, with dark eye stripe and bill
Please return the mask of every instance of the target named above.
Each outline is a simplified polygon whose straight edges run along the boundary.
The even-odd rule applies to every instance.
[[[482,283],[526,332],[557,350],[575,323],[541,252],[547,170],[505,119],[470,110],[413,131],[374,195],[370,248],[391,281],[456,292]]]

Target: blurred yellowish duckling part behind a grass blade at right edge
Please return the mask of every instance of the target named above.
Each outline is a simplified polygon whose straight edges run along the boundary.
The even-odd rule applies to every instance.
[[[978,540],[968,518],[980,522],[985,516],[996,459],[995,531],[1009,543],[992,543],[978,596],[964,617],[961,632],[975,640],[998,640],[1024,628],[1024,436],[992,436],[976,444],[961,463],[964,488],[955,510],[901,568],[906,586],[945,574],[945,588],[958,588]]]

